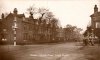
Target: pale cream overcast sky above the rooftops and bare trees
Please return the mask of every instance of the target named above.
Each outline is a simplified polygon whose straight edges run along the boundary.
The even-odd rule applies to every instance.
[[[99,0],[0,0],[0,9],[2,13],[9,13],[17,8],[18,13],[25,13],[32,5],[44,7],[54,13],[62,27],[71,24],[85,30],[95,4],[100,10]]]

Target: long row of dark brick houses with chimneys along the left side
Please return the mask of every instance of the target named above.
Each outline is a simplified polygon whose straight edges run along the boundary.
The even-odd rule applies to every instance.
[[[34,19],[32,13],[28,18],[24,14],[18,14],[17,8],[6,17],[2,14],[0,23],[0,41],[10,44],[50,42],[56,38],[56,29],[58,29],[57,25],[47,23],[45,19],[42,21]]]

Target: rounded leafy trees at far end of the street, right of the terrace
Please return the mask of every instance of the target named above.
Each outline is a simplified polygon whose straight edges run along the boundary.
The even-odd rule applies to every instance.
[[[80,33],[82,31],[81,28],[68,24],[64,31],[65,39],[68,41],[80,41],[83,39],[83,35]]]

